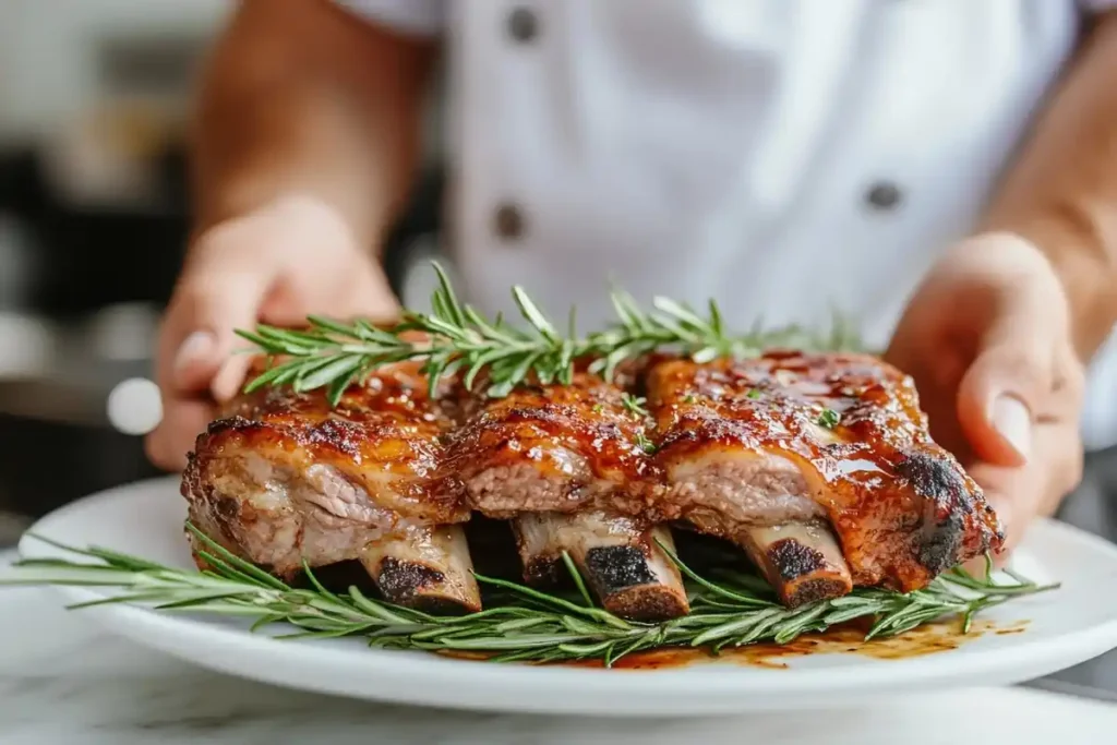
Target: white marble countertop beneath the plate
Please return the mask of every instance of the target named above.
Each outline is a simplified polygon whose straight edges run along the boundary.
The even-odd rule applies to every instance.
[[[747,737],[746,737],[747,735]],[[381,706],[223,677],[118,640],[38,590],[0,589],[0,745],[1096,745],[1117,705],[978,689],[842,713],[634,722]]]

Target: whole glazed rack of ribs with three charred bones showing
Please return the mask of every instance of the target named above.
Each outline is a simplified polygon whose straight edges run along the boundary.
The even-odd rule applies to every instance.
[[[604,608],[642,621],[688,612],[672,526],[739,546],[789,606],[916,590],[1003,541],[910,379],[867,355],[655,355],[615,383],[580,366],[498,399],[426,390],[408,364],[335,408],[242,397],[198,439],[190,519],[280,576],[359,558],[392,602],[469,611],[461,524],[478,512],[508,520],[527,582],[561,577],[565,554]]]

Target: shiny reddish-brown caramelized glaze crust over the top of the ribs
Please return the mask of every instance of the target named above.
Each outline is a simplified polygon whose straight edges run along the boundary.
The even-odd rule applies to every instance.
[[[650,417],[584,365],[571,385],[525,385],[503,399],[450,381],[431,400],[418,364],[375,372],[335,408],[322,391],[266,389],[235,401],[199,438],[183,494],[206,493],[214,459],[256,453],[296,477],[333,469],[405,522],[462,522],[470,509],[599,509],[719,534],[731,522],[770,525],[771,516],[696,509],[671,475],[712,453],[758,453],[790,464],[783,476],[802,486],[800,495],[767,486],[768,496],[786,497],[780,514],[828,520],[857,584],[918,589],[1001,545],[981,490],[930,440],[910,379],[879,360],[773,352],[696,364],[657,355],[623,380],[647,392]]]

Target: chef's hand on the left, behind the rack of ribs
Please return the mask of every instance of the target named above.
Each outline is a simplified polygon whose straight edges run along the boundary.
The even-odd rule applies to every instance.
[[[299,325],[307,314],[395,317],[383,273],[345,222],[303,197],[221,222],[193,242],[163,318],[156,382],[160,426],[147,437],[156,465],[179,469],[217,403],[241,388],[251,357],[237,328]]]

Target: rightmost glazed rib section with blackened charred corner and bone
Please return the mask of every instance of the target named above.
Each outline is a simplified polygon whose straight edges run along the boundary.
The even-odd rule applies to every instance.
[[[879,360],[676,359],[647,385],[663,502],[743,546],[789,605],[853,584],[916,590],[1003,541],[910,379]]]

